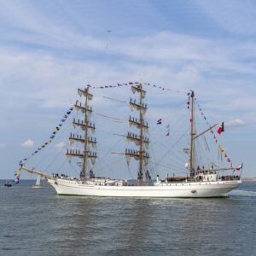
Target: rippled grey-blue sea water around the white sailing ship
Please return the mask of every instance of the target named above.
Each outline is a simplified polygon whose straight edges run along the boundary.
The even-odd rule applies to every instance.
[[[256,183],[229,198],[55,195],[0,183],[0,255],[256,255]]]

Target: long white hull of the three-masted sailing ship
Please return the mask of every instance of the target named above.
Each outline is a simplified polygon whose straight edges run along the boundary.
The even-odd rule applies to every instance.
[[[48,178],[58,195],[110,197],[218,197],[236,189],[241,180],[160,183],[152,186],[102,186],[83,184],[77,180]]]

